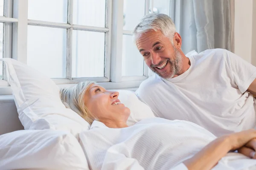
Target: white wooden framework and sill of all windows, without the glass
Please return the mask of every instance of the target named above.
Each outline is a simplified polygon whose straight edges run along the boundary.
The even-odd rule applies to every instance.
[[[149,1],[153,2],[153,0],[145,0],[145,14],[149,13]],[[170,8],[172,8],[170,16],[172,18],[175,18],[175,1],[170,1]],[[132,34],[131,31],[123,30],[123,0],[107,0],[106,28],[74,25],[73,0],[68,0],[67,23],[28,20],[28,0],[5,0],[4,12],[4,17],[0,17],[0,22],[6,23],[3,57],[17,59],[25,64],[27,63],[27,29],[29,25],[67,28],[66,78],[53,79],[60,87],[90,80],[98,82],[99,85],[107,89],[135,90],[143,80],[148,78],[148,67],[145,63],[143,76],[122,76],[122,36],[123,34]],[[72,78],[72,30],[105,32],[105,77]],[[0,95],[12,94],[5,73],[3,73],[3,78],[4,80],[0,80]]]

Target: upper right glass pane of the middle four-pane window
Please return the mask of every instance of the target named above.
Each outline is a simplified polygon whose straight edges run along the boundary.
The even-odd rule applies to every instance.
[[[74,0],[73,24],[105,27],[106,0]]]

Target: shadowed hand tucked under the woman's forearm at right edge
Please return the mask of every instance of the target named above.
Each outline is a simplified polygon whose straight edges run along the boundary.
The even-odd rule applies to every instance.
[[[252,159],[256,159],[256,139],[250,140],[247,144],[239,148],[237,151]]]

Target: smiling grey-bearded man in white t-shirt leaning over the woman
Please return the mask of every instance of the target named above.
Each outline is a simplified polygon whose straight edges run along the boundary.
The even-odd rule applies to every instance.
[[[256,67],[224,49],[186,57],[165,14],[143,17],[133,36],[155,73],[136,93],[156,116],[191,121],[216,136],[255,127]]]

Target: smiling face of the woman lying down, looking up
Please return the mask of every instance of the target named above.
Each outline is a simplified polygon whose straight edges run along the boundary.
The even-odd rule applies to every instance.
[[[100,122],[126,122],[131,112],[119,101],[118,95],[116,91],[92,84],[84,94],[84,104]]]

